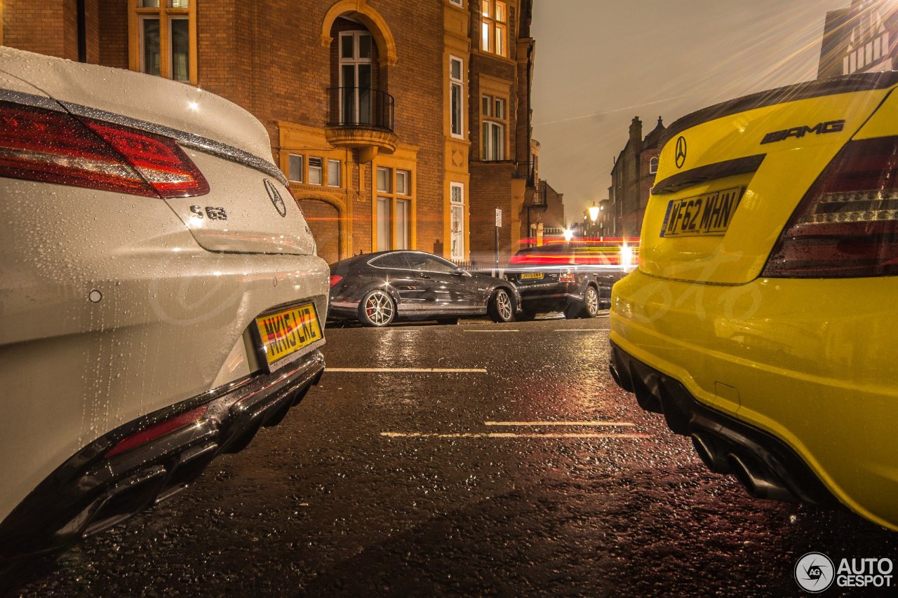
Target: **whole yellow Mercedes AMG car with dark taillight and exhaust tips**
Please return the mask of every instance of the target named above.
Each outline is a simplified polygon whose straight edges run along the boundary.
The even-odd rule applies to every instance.
[[[753,497],[898,530],[898,73],[763,92],[667,130],[612,374]]]

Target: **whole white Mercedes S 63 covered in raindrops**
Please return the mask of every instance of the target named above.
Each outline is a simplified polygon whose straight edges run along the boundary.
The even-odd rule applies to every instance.
[[[0,48],[0,153],[3,560],[283,418],[323,371],[329,272],[265,128],[189,85]]]

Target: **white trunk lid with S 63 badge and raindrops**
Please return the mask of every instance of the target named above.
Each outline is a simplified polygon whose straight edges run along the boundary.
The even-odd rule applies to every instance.
[[[0,48],[0,71],[33,84],[73,114],[175,138],[209,193],[164,199],[209,251],[308,254],[315,243],[249,112],[196,87],[105,66]]]

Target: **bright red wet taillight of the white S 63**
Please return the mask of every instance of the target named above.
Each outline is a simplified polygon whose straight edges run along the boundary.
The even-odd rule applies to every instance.
[[[5,101],[0,176],[145,197],[209,191],[196,164],[168,137]]]

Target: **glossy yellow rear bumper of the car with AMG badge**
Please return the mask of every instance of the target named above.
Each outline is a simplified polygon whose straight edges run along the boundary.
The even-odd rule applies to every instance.
[[[675,381],[691,402],[785,444],[842,504],[898,530],[898,345],[886,307],[896,293],[898,277],[717,286],[637,270],[613,287],[611,340],[656,373],[631,376],[649,389],[638,392],[644,407],[664,410],[651,397],[672,387],[659,376]],[[665,417],[691,435],[694,410]]]

